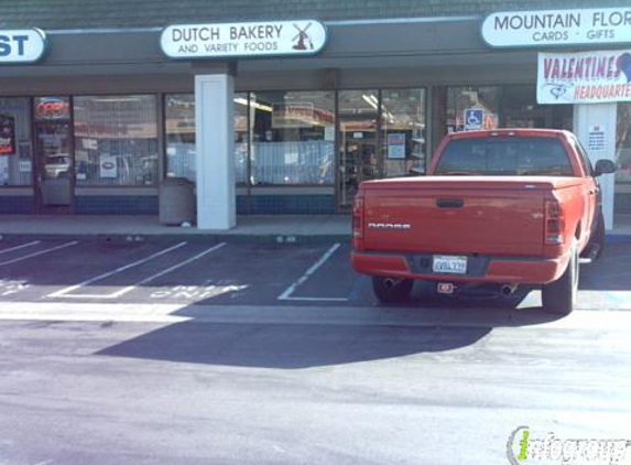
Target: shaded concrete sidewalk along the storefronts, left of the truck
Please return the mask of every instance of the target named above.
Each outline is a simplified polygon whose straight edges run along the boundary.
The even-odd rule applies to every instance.
[[[0,235],[33,238],[133,238],[187,240],[261,240],[274,242],[350,239],[350,216],[240,216],[229,231],[163,226],[157,216],[0,216]]]

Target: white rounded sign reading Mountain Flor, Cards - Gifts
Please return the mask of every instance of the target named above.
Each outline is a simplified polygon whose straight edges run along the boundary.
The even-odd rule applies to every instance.
[[[482,23],[492,47],[631,42],[631,7],[499,12]]]

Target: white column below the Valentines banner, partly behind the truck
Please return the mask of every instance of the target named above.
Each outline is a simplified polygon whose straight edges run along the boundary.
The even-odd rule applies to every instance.
[[[616,125],[618,104],[584,104],[574,106],[574,133],[587,150],[591,164],[601,159],[616,159]],[[605,132],[602,148],[589,143],[589,133],[597,127]],[[606,229],[613,228],[613,190],[614,175],[603,174],[598,177],[602,190],[602,213]]]

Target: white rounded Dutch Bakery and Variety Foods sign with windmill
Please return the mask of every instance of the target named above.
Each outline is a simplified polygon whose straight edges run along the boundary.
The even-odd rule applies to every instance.
[[[315,20],[170,25],[162,51],[172,58],[227,58],[313,55],[326,43]]]

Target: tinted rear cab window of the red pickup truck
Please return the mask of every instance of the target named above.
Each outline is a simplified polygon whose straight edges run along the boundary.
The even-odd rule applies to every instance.
[[[574,170],[558,139],[483,138],[450,141],[434,174],[573,176]]]

